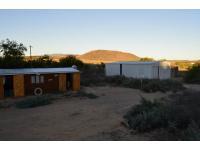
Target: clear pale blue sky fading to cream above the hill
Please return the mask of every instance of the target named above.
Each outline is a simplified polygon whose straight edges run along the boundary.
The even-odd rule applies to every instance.
[[[200,59],[199,10],[0,10],[0,40],[32,54],[120,50],[155,59]],[[26,52],[28,55],[29,52]]]

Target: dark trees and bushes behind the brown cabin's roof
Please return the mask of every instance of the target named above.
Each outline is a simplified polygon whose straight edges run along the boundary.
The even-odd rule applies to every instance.
[[[0,68],[38,68],[38,67],[72,67],[78,66],[79,69],[83,67],[83,62],[75,56],[68,56],[60,59],[59,62],[54,61],[48,55],[41,56],[33,60],[25,60],[24,52],[27,48],[16,41],[9,39],[0,42]]]

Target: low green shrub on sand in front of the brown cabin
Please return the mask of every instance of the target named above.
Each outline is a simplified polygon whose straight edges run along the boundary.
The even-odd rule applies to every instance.
[[[22,101],[16,102],[17,108],[32,108],[37,106],[43,106],[51,104],[53,98],[49,96],[36,96],[25,98]]]

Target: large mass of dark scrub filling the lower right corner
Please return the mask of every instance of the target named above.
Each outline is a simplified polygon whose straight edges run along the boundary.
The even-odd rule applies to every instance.
[[[200,92],[185,91],[153,102],[142,98],[124,119],[137,132],[154,131],[155,140],[200,140],[199,97]]]

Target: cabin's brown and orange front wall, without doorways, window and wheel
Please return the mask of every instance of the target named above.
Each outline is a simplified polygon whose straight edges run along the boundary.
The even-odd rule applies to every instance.
[[[34,95],[36,88],[41,88],[43,93],[52,93],[56,91],[66,91],[67,74],[42,74],[44,76],[43,83],[32,83],[33,75],[14,75],[13,91],[14,97],[24,95]],[[4,98],[4,76],[0,76],[0,98]],[[72,90],[80,90],[80,73],[72,73]]]

